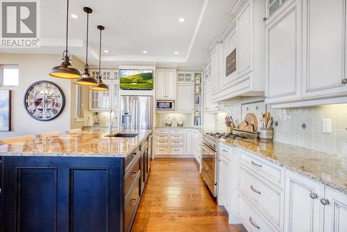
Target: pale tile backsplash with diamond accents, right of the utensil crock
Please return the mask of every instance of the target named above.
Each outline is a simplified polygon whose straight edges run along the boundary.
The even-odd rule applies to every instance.
[[[268,111],[274,141],[347,156],[347,104]],[[323,133],[323,119],[331,120],[331,133]]]

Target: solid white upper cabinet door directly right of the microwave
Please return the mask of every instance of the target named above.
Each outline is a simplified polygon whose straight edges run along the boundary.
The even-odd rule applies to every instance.
[[[176,111],[181,113],[193,113],[194,110],[194,85],[177,84]]]

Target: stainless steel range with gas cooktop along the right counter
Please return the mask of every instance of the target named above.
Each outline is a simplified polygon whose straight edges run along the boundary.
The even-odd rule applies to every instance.
[[[246,137],[233,135],[231,133],[205,133],[205,135],[203,135],[203,143],[201,144],[201,175],[203,176],[203,181],[205,181],[214,197],[217,197],[219,173],[217,140],[221,138],[244,139]]]

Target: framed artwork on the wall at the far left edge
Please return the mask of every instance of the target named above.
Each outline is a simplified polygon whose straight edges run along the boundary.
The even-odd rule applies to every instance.
[[[0,131],[11,131],[11,90],[0,90]]]

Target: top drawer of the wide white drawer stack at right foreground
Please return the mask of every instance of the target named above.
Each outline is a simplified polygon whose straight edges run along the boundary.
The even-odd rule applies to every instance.
[[[282,168],[278,167],[269,161],[257,158],[253,154],[249,154],[244,150],[239,151],[239,160],[246,163],[248,167],[256,172],[264,175],[265,178],[273,181],[278,185],[282,185]],[[282,186],[281,186],[282,187]]]

